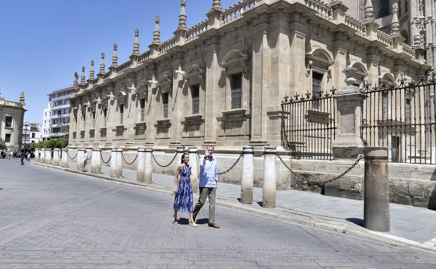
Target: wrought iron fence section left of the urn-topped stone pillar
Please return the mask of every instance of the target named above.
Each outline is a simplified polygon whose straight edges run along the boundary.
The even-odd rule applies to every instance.
[[[317,90],[284,97],[282,101],[282,146],[296,159],[333,159],[336,134],[336,89]]]

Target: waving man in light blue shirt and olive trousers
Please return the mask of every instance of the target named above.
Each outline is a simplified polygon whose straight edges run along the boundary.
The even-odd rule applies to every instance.
[[[209,198],[209,227],[219,228],[215,224],[215,191],[217,189],[218,181],[218,163],[212,156],[214,152],[214,146],[208,145],[204,152],[204,157],[200,159],[200,180],[198,181],[198,187],[200,188],[200,197],[194,207],[193,217],[197,217],[201,207],[206,202],[206,198]]]

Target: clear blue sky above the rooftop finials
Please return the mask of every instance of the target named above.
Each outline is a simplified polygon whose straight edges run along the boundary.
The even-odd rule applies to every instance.
[[[206,19],[213,0],[186,0],[187,26]],[[236,0],[222,0],[229,7]],[[24,91],[24,120],[42,123],[48,93],[79,79],[82,66],[89,77],[91,60],[99,72],[101,53],[106,71],[112,62],[113,44],[118,45],[118,63],[133,51],[139,29],[140,52],[153,40],[154,16],[160,15],[160,39],[174,36],[180,0],[24,0],[3,1],[0,42],[0,92],[6,100],[18,101]]]

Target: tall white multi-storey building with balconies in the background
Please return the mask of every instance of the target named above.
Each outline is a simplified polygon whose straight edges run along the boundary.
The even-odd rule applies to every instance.
[[[71,86],[54,90],[48,95],[48,108],[43,112],[42,139],[58,138],[66,134],[62,126],[70,122]]]

